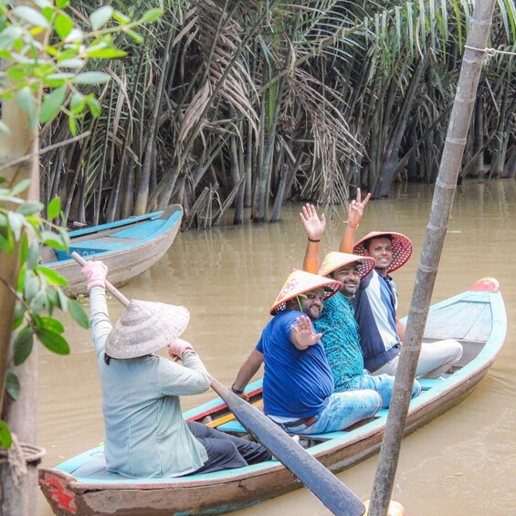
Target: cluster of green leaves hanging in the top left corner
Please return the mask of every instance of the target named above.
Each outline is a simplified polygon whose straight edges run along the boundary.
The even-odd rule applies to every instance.
[[[78,120],[90,110],[98,117],[100,108],[96,99],[99,87],[111,78],[96,71],[98,63],[87,70],[90,59],[123,58],[126,52],[116,47],[113,35],[124,33],[141,43],[143,37],[133,29],[153,23],[163,11],[154,8],[132,20],[111,5],[103,5],[90,14],[90,20],[79,18],[68,9],[68,0],[41,0],[36,5],[18,5],[8,10],[3,6],[3,24],[0,24],[0,58],[5,63],[5,73],[0,78],[0,98],[15,98],[26,111],[33,129],[37,122],[52,121],[65,111],[72,134],[78,132]],[[68,12],[70,11],[70,12]],[[2,21],[2,20],[0,20]],[[45,45],[41,42],[44,41]],[[80,91],[88,89],[88,95]],[[91,91],[94,90],[94,93]],[[41,109],[37,97],[43,92]],[[71,95],[68,95],[71,93]],[[67,110],[68,98],[86,97],[85,102],[75,102]],[[0,131],[8,128],[0,126]]]

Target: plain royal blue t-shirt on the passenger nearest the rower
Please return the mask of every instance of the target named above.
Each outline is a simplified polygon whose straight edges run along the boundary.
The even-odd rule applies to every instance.
[[[333,394],[332,371],[321,341],[306,350],[290,341],[290,325],[301,315],[280,312],[269,321],[256,347],[264,355],[263,405],[269,416],[317,416]]]

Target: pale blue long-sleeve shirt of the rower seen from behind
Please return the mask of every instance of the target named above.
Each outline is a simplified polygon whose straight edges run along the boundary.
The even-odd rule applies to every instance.
[[[102,384],[109,471],[126,477],[177,477],[199,469],[205,448],[184,423],[179,395],[204,393],[209,375],[197,353],[180,365],[157,355],[104,362],[111,332],[105,291],[90,290],[90,323]]]

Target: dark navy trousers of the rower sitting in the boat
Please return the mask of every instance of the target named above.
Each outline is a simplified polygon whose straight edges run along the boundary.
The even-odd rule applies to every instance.
[[[194,474],[242,468],[271,458],[269,451],[254,441],[231,436],[195,421],[186,425],[208,454],[205,464]]]

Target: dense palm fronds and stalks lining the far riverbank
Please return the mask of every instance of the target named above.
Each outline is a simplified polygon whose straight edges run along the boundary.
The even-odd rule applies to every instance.
[[[117,9],[155,6],[141,4]],[[189,228],[229,208],[235,224],[244,207],[276,221],[287,199],[334,205],[358,185],[381,198],[397,181],[431,184],[473,4],[165,2],[142,44],[104,70],[100,117],[41,156],[42,201],[60,195],[66,222],[90,224],[176,202]],[[516,10],[499,5],[461,178],[516,171]],[[79,19],[89,10],[74,2]],[[42,147],[69,131],[63,112]]]

